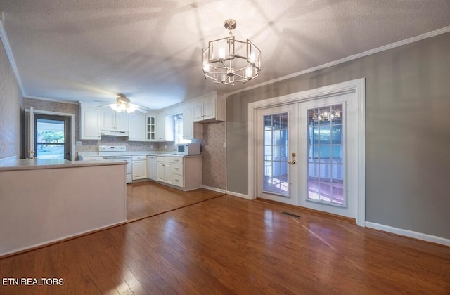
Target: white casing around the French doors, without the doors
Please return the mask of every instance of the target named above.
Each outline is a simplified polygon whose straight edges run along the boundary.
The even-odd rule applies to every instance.
[[[286,96],[268,98],[248,104],[248,197],[257,197],[257,110],[300,103],[317,98],[356,93],[358,171],[356,224],[366,226],[366,81],[365,78],[345,81],[339,84],[323,86],[317,89],[291,93]]]

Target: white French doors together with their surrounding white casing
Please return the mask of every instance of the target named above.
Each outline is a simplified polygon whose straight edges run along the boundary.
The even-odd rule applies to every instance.
[[[364,79],[249,104],[249,197],[365,219]]]

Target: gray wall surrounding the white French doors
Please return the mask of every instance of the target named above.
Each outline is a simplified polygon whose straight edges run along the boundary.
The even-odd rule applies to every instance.
[[[248,194],[248,103],[365,77],[366,221],[450,238],[449,74],[446,33],[229,96],[228,190]]]

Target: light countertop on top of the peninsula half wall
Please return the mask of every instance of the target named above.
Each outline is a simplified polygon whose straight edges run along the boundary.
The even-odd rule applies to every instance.
[[[126,161],[101,160],[101,161],[68,161],[66,159],[13,159],[0,164],[1,171],[75,168],[87,166],[124,165]]]

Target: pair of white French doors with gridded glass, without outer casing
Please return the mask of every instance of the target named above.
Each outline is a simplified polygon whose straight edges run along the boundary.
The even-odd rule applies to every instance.
[[[354,93],[257,110],[257,195],[356,218]]]

